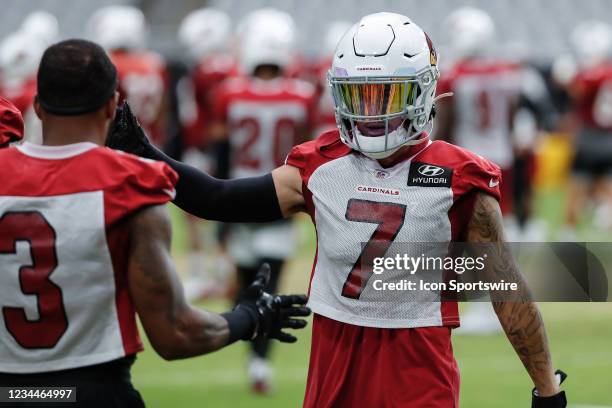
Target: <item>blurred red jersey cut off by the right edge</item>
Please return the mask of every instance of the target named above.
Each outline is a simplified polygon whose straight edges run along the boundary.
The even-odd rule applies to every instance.
[[[578,117],[584,126],[612,131],[612,63],[580,71],[573,81]]]

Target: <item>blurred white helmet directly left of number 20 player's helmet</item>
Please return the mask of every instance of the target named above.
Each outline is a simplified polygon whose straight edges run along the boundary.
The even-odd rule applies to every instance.
[[[200,61],[229,47],[230,17],[216,9],[202,8],[187,14],[178,30],[179,41],[192,59]]]

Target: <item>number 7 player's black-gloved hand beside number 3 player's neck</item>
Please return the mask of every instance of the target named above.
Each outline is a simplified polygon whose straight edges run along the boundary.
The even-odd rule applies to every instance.
[[[145,156],[151,143],[127,102],[117,107],[115,120],[108,129],[106,146],[138,156]]]

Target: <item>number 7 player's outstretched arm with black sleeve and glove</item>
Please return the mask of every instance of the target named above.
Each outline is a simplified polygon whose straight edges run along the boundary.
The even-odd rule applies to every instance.
[[[194,167],[173,160],[156,149],[147,139],[136,117],[125,103],[117,110],[115,122],[109,132],[107,146],[164,161],[179,175],[174,203],[184,211],[200,218],[224,222],[269,222],[289,216],[289,209],[296,208],[294,202],[286,201],[286,188],[272,174],[235,180],[220,180]],[[293,184],[299,186],[299,174]],[[294,211],[295,212],[295,211]]]

